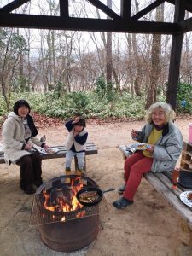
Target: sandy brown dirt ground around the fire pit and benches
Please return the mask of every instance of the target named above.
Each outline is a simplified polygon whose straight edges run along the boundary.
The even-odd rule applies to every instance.
[[[177,119],[185,140],[189,121]],[[133,206],[121,211],[112,205],[119,198],[117,189],[123,183],[123,158],[118,146],[132,143],[131,129],[140,129],[143,124],[143,121],[88,122],[89,141],[96,143],[98,154],[87,157],[86,175],[95,179],[102,189],[114,187],[116,191],[105,194],[108,212],[100,217],[96,240],[75,253],[55,252],[44,245],[38,230],[29,227],[33,196],[20,190],[19,167],[1,165],[0,255],[191,256],[188,230],[182,230],[180,217],[144,178]],[[39,129],[39,135],[44,134],[49,145],[58,145],[64,142],[67,131],[62,125]],[[44,160],[44,181],[63,175],[64,163],[64,159]]]

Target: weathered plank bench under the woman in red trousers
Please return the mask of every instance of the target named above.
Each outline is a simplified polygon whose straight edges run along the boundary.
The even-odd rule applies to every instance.
[[[192,144],[190,144],[190,146],[192,151]],[[130,156],[128,150],[126,150],[125,145],[119,146],[119,149],[123,153],[124,159]],[[166,201],[168,201],[169,204],[172,205],[172,207],[176,209],[177,213],[184,219],[185,223],[187,223],[187,225],[189,226],[189,232],[191,233],[190,246],[192,246],[192,231],[191,231],[192,230],[192,208],[186,206],[180,200],[180,197],[179,197],[179,195],[183,191],[186,191],[189,189],[184,189],[182,186],[179,186],[179,185],[177,185],[177,189],[172,189],[172,181],[171,181],[172,172],[159,172],[159,173],[148,172],[144,175],[144,177],[154,187],[154,189],[157,192],[159,192],[160,195],[162,195],[166,199]]]

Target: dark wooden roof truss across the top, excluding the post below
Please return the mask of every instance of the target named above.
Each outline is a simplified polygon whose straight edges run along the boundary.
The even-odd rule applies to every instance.
[[[32,1],[32,0],[31,0]],[[192,18],[179,22],[156,22],[139,20],[161,3],[179,5],[178,9],[192,12],[192,0],[156,0],[135,15],[131,15],[131,0],[121,0],[120,15],[99,0],[87,0],[111,19],[91,19],[70,17],[68,0],[59,0],[60,16],[26,15],[12,13],[30,0],[14,0],[0,9],[0,26],[38,29],[61,29],[75,31],[105,31],[131,33],[175,34],[192,30]]]

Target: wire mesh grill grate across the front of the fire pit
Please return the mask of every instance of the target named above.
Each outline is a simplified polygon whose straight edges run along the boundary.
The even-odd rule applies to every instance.
[[[34,195],[32,203],[30,226],[86,218],[102,212],[108,212],[108,205],[104,196],[102,198],[102,201],[100,201],[100,203],[96,206],[82,207],[81,209],[72,212],[51,212],[44,208],[44,195],[36,194]]]

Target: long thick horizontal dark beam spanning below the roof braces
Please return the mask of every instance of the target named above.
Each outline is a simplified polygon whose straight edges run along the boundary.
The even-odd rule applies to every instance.
[[[47,15],[1,14],[0,26],[38,29],[61,29],[91,32],[133,32],[173,34],[178,32],[177,24],[130,20],[101,20]]]

